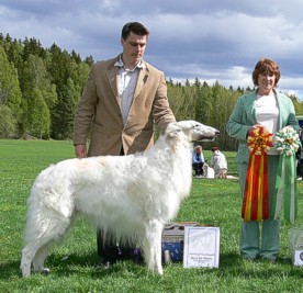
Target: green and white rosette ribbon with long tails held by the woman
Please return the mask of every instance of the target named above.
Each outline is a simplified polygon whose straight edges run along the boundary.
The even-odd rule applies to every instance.
[[[294,223],[298,214],[295,153],[300,145],[299,135],[293,127],[285,126],[277,133],[276,148],[280,160],[276,180],[277,196],[270,212],[273,218],[280,217],[283,203],[284,218],[291,223]]]

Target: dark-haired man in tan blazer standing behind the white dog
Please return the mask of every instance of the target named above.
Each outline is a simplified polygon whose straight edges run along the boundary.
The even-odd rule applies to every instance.
[[[176,122],[164,72],[143,60],[148,35],[143,24],[126,23],[121,35],[122,54],[92,66],[75,117],[78,158],[145,151],[154,144],[154,122],[161,129]],[[98,232],[98,255],[109,267],[124,252],[110,237],[104,241],[103,234]]]

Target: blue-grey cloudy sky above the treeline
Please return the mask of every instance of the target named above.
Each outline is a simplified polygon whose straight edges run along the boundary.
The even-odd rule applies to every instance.
[[[101,60],[139,21],[150,31],[145,59],[167,78],[251,88],[267,57],[280,66],[280,90],[303,100],[302,12],[302,0],[0,0],[0,33]]]

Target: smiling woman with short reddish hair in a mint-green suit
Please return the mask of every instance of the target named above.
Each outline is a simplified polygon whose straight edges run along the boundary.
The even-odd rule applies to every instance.
[[[260,126],[273,134],[287,125],[299,131],[292,101],[276,90],[280,79],[279,66],[271,59],[260,59],[252,71],[252,81],[257,90],[240,97],[227,122],[226,131],[229,136],[239,140],[236,162],[239,170],[242,194],[245,194],[246,173],[250,151],[247,145],[248,134]],[[279,166],[279,154],[274,147],[267,153],[268,158],[268,203],[269,211],[276,196],[274,185]],[[260,235],[260,227],[261,235]],[[280,218],[269,216],[262,222],[242,221],[240,255],[247,259],[261,258],[274,262],[279,252]]]

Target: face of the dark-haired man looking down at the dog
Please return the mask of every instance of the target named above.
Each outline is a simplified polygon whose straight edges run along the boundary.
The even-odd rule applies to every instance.
[[[147,43],[147,35],[135,35],[131,32],[126,40],[121,38],[124,61],[137,64],[144,55]]]

